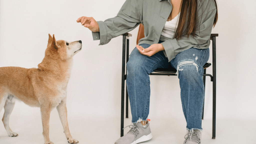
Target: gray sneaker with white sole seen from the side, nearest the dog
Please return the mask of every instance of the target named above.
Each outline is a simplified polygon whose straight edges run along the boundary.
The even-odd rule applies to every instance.
[[[119,138],[115,144],[136,144],[150,140],[153,137],[150,131],[149,122],[145,128],[142,126],[141,122],[127,127],[131,128],[129,132],[127,132],[123,137]]]

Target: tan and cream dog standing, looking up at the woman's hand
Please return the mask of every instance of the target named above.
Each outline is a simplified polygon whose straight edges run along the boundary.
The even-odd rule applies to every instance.
[[[68,142],[78,143],[69,132],[66,96],[73,56],[81,49],[81,40],[56,41],[55,36],[49,34],[45,57],[38,68],[0,68],[0,111],[4,107],[2,121],[9,136],[18,136],[9,127],[9,116],[17,99],[31,107],[40,107],[45,144],[53,144],[49,139],[49,120],[55,107]]]

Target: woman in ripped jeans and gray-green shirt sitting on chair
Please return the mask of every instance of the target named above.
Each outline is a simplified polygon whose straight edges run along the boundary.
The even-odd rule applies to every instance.
[[[216,0],[126,0],[116,17],[96,22],[80,17],[77,22],[92,31],[100,45],[125,34],[140,23],[144,38],[127,62],[126,85],[131,105],[131,130],[115,144],[150,140],[147,117],[150,104],[149,75],[157,68],[177,69],[180,96],[187,122],[185,144],[201,143],[204,102],[203,66],[209,59],[212,27],[218,19]]]

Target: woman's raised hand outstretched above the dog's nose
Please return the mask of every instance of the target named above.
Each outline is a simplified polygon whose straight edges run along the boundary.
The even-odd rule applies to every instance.
[[[92,32],[100,32],[99,25],[93,17],[82,16],[77,19],[77,22],[89,28]]]

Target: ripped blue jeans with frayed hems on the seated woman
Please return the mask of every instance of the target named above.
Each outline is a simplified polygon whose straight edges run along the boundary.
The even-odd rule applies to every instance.
[[[149,44],[141,44],[147,48]],[[150,104],[149,75],[157,68],[170,66],[178,69],[180,97],[183,113],[187,122],[187,129],[199,129],[202,123],[202,109],[204,103],[204,64],[209,59],[209,48],[190,48],[185,50],[170,62],[163,51],[148,57],[134,48],[126,64],[126,85],[131,105],[132,123],[146,120]]]

